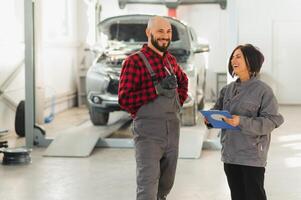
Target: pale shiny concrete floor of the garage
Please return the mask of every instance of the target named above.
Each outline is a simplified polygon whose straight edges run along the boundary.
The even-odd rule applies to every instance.
[[[282,106],[280,111],[285,123],[273,132],[266,191],[270,200],[298,200],[301,199],[301,106]],[[86,119],[81,113],[79,116]],[[24,142],[12,135],[0,140],[6,138],[10,145]],[[43,157],[44,151],[35,148],[29,165],[0,165],[1,200],[135,199],[133,149],[97,148],[88,158]],[[200,159],[179,159],[176,182],[168,199],[230,200],[220,152],[203,150]]]

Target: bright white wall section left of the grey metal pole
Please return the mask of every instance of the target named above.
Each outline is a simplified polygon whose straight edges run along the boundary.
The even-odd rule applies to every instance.
[[[0,1],[0,87],[22,63],[24,57],[23,5],[18,0]],[[12,129],[14,106],[24,98],[24,66],[0,93],[0,129]],[[4,88],[3,88],[4,89]]]

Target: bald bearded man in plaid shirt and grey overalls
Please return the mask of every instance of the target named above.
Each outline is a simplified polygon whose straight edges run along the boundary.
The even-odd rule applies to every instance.
[[[155,16],[140,51],[123,63],[119,104],[132,118],[137,164],[137,200],[164,200],[175,178],[180,109],[187,98],[188,79],[168,51],[170,22]]]

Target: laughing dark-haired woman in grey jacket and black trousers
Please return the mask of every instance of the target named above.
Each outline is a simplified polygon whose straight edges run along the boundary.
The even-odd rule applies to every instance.
[[[222,129],[222,161],[232,200],[266,200],[264,174],[271,132],[283,123],[272,89],[257,75],[264,61],[253,45],[237,46],[228,71],[237,80],[220,92],[213,109],[227,110],[224,121],[239,130]],[[207,123],[205,121],[205,123]]]

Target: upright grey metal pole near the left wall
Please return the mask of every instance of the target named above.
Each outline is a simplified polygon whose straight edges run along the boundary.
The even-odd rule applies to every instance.
[[[34,141],[34,2],[24,0],[25,28],[25,137],[26,146]]]

